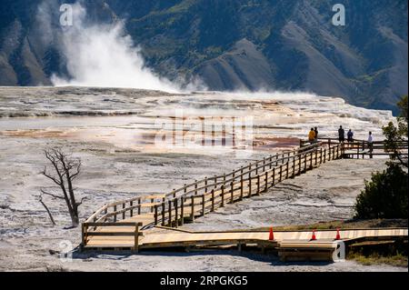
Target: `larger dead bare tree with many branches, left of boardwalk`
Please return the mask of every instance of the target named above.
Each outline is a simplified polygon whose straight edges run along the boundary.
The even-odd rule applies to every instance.
[[[79,224],[78,207],[82,205],[85,200],[85,197],[83,197],[80,202],[76,201],[73,186],[73,180],[75,180],[81,172],[81,159],[73,158],[70,154],[66,154],[61,148],[46,149],[45,158],[50,161],[53,169],[47,170],[45,166],[42,174],[58,185],[61,188],[62,194],[51,194],[43,189],[41,192],[55,199],[65,200],[65,204],[71,216],[72,225],[76,227]]]

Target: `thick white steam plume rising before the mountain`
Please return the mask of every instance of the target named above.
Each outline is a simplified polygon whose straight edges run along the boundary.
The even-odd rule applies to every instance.
[[[125,34],[123,22],[89,24],[85,8],[79,3],[72,7],[73,25],[64,27],[59,37],[70,77],[53,75],[54,85],[181,90],[180,85],[155,75],[145,66],[140,48]]]

